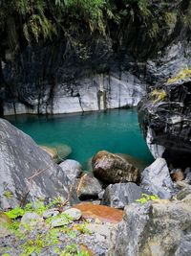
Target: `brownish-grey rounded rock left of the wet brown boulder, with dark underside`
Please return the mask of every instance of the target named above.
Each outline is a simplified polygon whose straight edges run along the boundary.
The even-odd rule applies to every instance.
[[[80,200],[96,199],[102,191],[101,184],[92,174],[83,175],[78,182],[76,193]]]

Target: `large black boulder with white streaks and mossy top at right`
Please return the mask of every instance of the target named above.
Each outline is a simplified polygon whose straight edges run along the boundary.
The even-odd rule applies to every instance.
[[[138,104],[138,120],[154,157],[175,168],[191,166],[191,79],[171,79]]]

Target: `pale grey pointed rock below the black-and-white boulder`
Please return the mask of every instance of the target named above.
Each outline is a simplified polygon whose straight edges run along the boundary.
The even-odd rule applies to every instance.
[[[157,195],[159,198],[172,198],[176,194],[165,159],[158,158],[144,169],[140,187],[148,194]]]

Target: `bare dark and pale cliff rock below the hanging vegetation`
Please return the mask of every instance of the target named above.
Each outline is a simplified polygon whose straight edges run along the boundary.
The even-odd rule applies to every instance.
[[[10,33],[0,49],[0,114],[137,105],[150,85],[191,63],[190,30],[180,18],[187,15],[189,1],[148,1],[147,9],[160,15],[161,24],[132,6],[135,17],[128,16],[122,27],[111,25],[110,35],[78,35],[77,51],[61,36],[28,44],[11,25],[16,39]]]

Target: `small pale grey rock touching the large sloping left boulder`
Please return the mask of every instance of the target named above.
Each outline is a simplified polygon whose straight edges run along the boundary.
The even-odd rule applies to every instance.
[[[82,166],[75,160],[67,159],[59,164],[59,166],[62,168],[64,174],[68,176],[71,183],[74,183],[74,179],[82,174]]]

